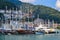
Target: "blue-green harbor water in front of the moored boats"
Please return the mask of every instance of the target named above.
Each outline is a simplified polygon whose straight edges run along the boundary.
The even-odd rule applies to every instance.
[[[59,34],[0,35],[0,40],[60,40]]]

